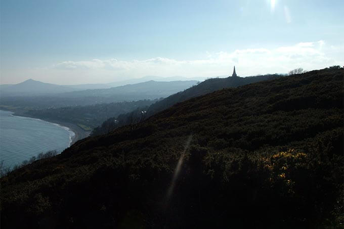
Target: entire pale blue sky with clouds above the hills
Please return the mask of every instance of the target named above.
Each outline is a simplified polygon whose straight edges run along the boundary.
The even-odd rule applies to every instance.
[[[342,0],[1,0],[0,83],[343,66],[342,12]]]

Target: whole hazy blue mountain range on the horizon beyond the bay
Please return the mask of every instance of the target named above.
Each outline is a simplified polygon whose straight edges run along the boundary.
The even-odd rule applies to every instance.
[[[18,88],[24,83],[25,85],[29,85],[25,87],[26,90]],[[60,85],[45,84],[39,81],[29,80],[20,83],[19,86],[15,84],[9,86],[6,90],[1,90],[0,104],[2,109],[12,109],[11,111],[14,111],[13,107],[19,109],[25,107],[25,110],[27,110],[27,108],[45,109],[124,101],[155,100],[165,98],[178,91],[187,89],[196,83],[197,81],[195,80],[169,82],[148,81],[106,89],[76,91],[74,88],[70,89],[69,87]],[[14,92],[12,93],[12,90],[9,88],[14,88]],[[31,89],[29,90],[29,88]],[[35,90],[34,88],[38,89]],[[50,94],[47,93],[49,88]],[[62,89],[67,91],[61,93]],[[18,93],[18,91],[21,91],[21,93]],[[40,91],[40,93],[38,93],[38,91]],[[60,93],[56,93],[57,91]]]

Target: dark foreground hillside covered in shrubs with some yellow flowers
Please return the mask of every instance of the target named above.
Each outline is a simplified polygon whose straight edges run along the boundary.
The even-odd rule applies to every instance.
[[[342,122],[342,68],[219,90],[3,177],[2,228],[340,228]]]

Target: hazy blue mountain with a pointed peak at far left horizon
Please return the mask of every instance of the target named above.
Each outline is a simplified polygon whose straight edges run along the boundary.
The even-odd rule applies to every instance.
[[[75,88],[69,86],[61,86],[52,83],[44,83],[33,79],[25,80],[17,84],[1,85],[2,96],[28,96],[41,94],[56,94],[73,91]]]

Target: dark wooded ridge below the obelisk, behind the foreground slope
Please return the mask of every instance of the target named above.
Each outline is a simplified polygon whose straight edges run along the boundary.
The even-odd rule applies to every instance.
[[[135,125],[136,123],[145,120],[146,118],[167,109],[177,103],[186,101],[188,99],[202,96],[213,91],[228,88],[237,87],[249,83],[259,82],[263,80],[271,80],[281,77],[279,74],[268,74],[250,77],[228,77],[228,78],[211,78],[207,79],[197,85],[194,85],[184,91],[180,91],[174,95],[171,95],[165,99],[162,99],[149,107],[140,107],[132,112],[126,114],[120,114],[104,121],[100,126],[96,127],[91,136],[97,136],[108,133],[123,125]]]

